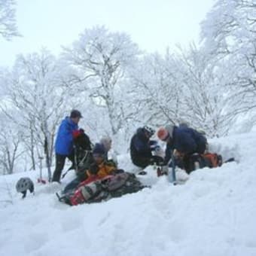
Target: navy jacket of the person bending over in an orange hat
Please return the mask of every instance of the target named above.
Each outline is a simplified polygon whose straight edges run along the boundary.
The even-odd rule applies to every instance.
[[[165,162],[170,160],[174,149],[184,154],[203,154],[206,150],[206,142],[206,137],[202,133],[198,133],[197,130],[175,126],[172,139],[166,145]]]

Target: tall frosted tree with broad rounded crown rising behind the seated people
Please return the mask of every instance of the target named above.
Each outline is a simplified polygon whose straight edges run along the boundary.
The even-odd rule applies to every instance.
[[[76,81],[76,87],[80,83],[80,90],[89,93],[94,105],[105,109],[111,135],[118,133],[126,118],[123,84],[138,53],[138,47],[128,35],[110,32],[103,26],[86,29],[63,53],[69,66],[75,70],[73,81]]]

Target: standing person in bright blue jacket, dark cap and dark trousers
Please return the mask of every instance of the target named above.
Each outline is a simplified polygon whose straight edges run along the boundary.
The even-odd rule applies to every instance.
[[[62,169],[65,165],[66,157],[74,164],[73,134],[78,130],[78,123],[82,117],[81,112],[73,109],[69,117],[60,123],[55,142],[56,167],[53,172],[52,181],[60,182]]]

